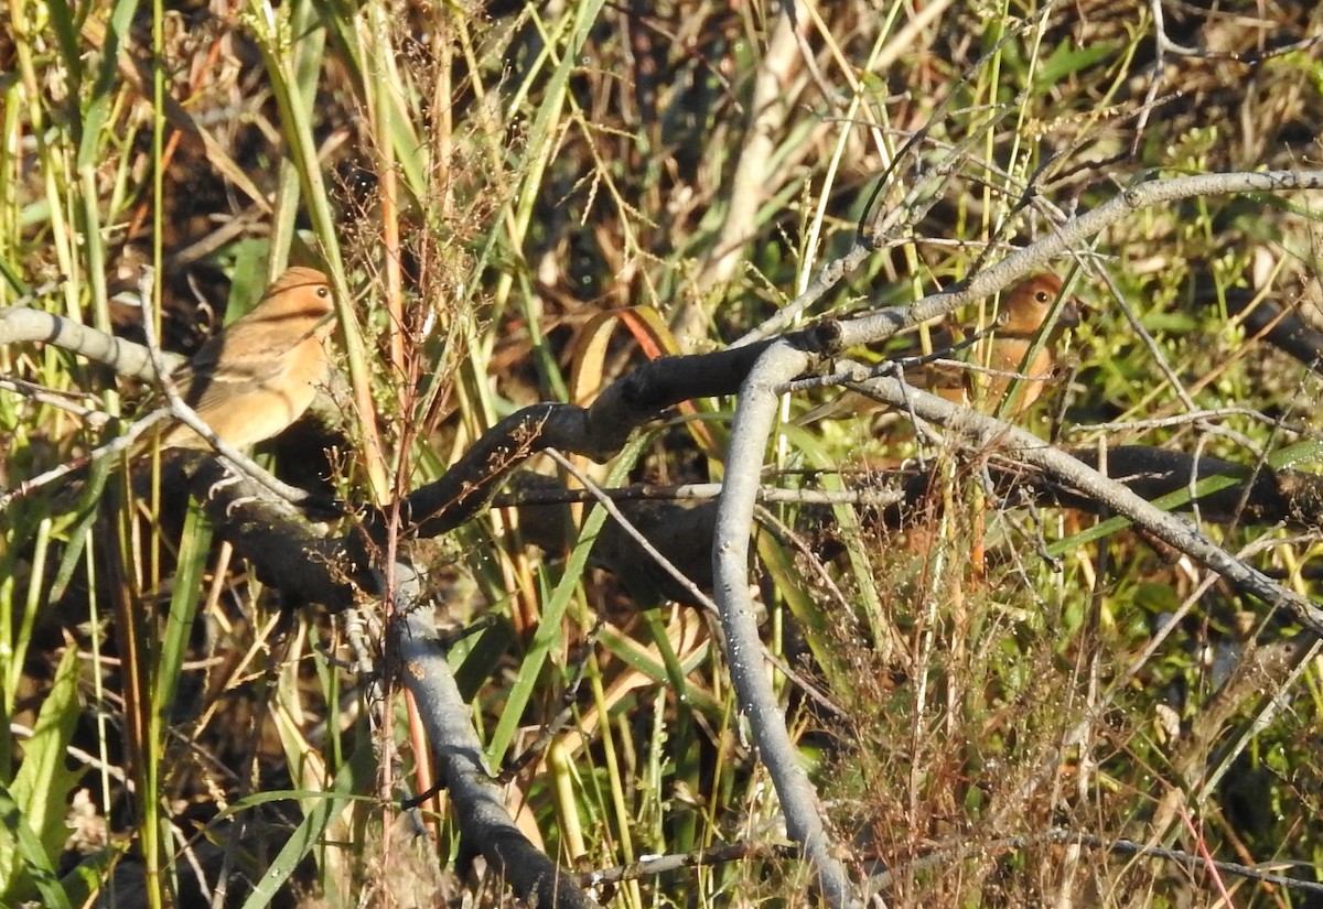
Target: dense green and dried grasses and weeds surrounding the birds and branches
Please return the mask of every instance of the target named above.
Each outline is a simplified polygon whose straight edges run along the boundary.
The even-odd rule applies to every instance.
[[[286,263],[327,271],[344,387],[263,462],[347,503],[300,532],[366,539],[380,589],[397,551],[418,567],[488,766],[523,761],[499,781],[532,844],[574,872],[729,847],[590,889],[615,905],[818,898],[701,605],[710,489],[675,489],[728,464],[740,398],[703,355],[787,309],[771,334],[958,288],[1140,181],[1320,152],[1304,3],[9,9],[0,305],[139,342],[146,287],[188,354]],[[1275,470],[1315,469],[1316,201],[1213,192],[1072,242],[1050,268],[1086,312],[1017,424],[1094,465],[1143,445],[1283,490]],[[456,493],[429,514],[471,513],[421,527],[390,507],[503,418],[667,354],[700,391],[601,462],[513,437],[495,501]],[[0,488],[123,432],[152,382],[114,371],[0,346]],[[783,399],[762,484],[799,495],[759,506],[750,571],[849,876],[888,905],[1318,904],[1197,863],[1323,883],[1299,616],[1048,489],[1009,436],[896,410],[796,424],[833,394]],[[209,458],[164,460],[155,482],[105,458],[0,493],[0,902],[511,901],[447,791],[401,805],[433,769],[393,610],[344,613],[370,572],[335,563],[310,596],[311,543],[237,530],[243,502],[204,515],[185,490]],[[634,488],[619,507],[693,584],[564,495],[585,486]],[[1308,597],[1316,506],[1259,506],[1246,485],[1188,517]]]

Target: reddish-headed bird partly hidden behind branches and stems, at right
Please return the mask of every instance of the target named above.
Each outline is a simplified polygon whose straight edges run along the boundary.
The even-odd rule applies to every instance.
[[[1007,418],[1019,420],[1046,390],[1065,330],[1080,324],[1080,301],[1072,297],[1061,305],[1056,322],[1039,345],[1032,362],[1025,362],[1061,291],[1061,279],[1052,272],[1025,277],[1002,295],[1002,317],[990,336],[979,338],[971,346],[967,358],[970,367],[927,363],[906,371],[906,382],[986,414],[996,412],[1011,391],[1012,382],[1017,382],[1019,392]],[[881,410],[885,410],[884,404],[867,395],[847,391],[807,411],[795,424],[848,419]]]

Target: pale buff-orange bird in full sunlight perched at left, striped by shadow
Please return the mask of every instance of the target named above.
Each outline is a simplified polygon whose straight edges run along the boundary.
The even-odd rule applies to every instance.
[[[324,384],[335,296],[324,273],[294,267],[277,277],[251,310],[221,329],[169,378],[184,403],[234,448],[279,435],[298,420]],[[172,420],[131,448],[134,460],[153,445],[209,449]]]

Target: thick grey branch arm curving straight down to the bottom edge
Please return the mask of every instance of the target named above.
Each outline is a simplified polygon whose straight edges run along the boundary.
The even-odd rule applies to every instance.
[[[749,717],[758,753],[777,787],[786,828],[812,863],[818,887],[828,904],[848,906],[857,901],[851,896],[845,869],[832,856],[816,793],[786,731],[785,712],[763,673],[762,641],[749,595],[754,502],[763,453],[777,419],[779,388],[807,370],[810,361],[806,351],[790,344],[774,344],[758,358],[740,390],[712,544],[713,593],[721,609],[726,659],[740,708]]]

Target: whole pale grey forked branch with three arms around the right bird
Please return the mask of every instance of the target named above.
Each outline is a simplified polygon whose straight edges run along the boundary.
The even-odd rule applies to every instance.
[[[1323,172],[1316,170],[1201,174],[1174,180],[1151,180],[1076,218],[1056,234],[974,275],[951,292],[927,297],[912,307],[885,309],[873,316],[827,325],[824,332],[814,340],[818,344],[826,342],[827,347],[839,345],[835,346],[836,350],[882,341],[905,328],[943,316],[966,303],[996,292],[1015,279],[1043,267],[1052,256],[1070,250],[1142,207],[1189,196],[1318,188],[1323,188]],[[839,267],[840,263],[831,263],[824,271]],[[830,854],[812,785],[808,782],[803,766],[798,762],[786,732],[785,717],[755,657],[759,653],[757,646],[759,639],[753,617],[753,602],[749,596],[749,536],[753,530],[757,478],[761,474],[763,452],[775,420],[777,398],[785,383],[810,369],[812,359],[811,354],[796,346],[790,337],[783,338],[762,353],[741,387],[728,452],[726,486],[722,490],[713,539],[713,575],[716,600],[721,606],[721,621],[728,639],[732,678],[740,696],[741,709],[749,716],[763,762],[777,786],[777,794],[786,813],[787,827],[791,836],[803,844],[804,852],[814,863],[823,894],[832,905],[844,905],[851,900],[844,869]],[[855,378],[863,381],[867,374]],[[1017,453],[1027,462],[1058,476],[1085,494],[1098,498],[1119,514],[1131,518],[1135,523],[1148,527],[1156,536],[1199,559],[1241,589],[1269,604],[1287,608],[1298,621],[1311,630],[1323,632],[1323,612],[1312,604],[1232,558],[1187,522],[1160,511],[1129,489],[1089,470],[1070,456],[1046,448],[1036,436],[999,420],[983,418],[934,395],[916,394],[917,390],[909,390],[898,379],[875,379],[872,386],[878,392],[877,396],[892,406],[905,410],[914,407],[916,400],[921,400],[923,411],[914,407],[914,412],[983,441],[1009,436],[1012,444],[1019,443],[1019,447],[1023,447]],[[885,387],[885,392],[881,391],[882,387]]]

